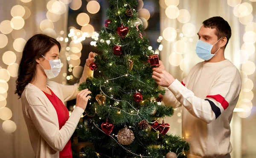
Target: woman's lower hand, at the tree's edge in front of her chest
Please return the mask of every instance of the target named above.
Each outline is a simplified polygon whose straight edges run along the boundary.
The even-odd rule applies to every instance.
[[[91,96],[88,96],[91,92],[88,89],[81,90],[79,93],[76,95],[76,106],[81,107],[82,109],[85,110],[87,106],[88,100],[91,98]]]

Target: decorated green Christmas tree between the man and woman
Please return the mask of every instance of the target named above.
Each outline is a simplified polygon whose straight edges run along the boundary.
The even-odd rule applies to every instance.
[[[157,88],[152,67],[158,56],[148,50],[137,0],[109,0],[108,20],[97,43],[102,55],[90,69],[102,77],[88,78],[79,90],[92,94],[79,137],[93,145],[82,148],[82,158],[175,158],[184,157],[189,145],[168,134],[169,124],[159,118],[172,116],[172,107],[159,104],[164,90]]]

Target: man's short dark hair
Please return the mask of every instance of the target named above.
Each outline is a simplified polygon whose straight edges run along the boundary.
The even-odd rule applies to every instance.
[[[221,37],[227,38],[227,43],[231,37],[231,28],[230,25],[222,17],[211,17],[203,22],[205,28],[216,29],[216,35],[218,40]],[[226,48],[227,43],[224,48]]]

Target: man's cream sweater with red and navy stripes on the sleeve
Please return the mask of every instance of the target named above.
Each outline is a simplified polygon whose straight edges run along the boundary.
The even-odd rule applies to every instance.
[[[241,77],[229,61],[200,62],[180,83],[166,89],[163,103],[182,106],[182,136],[188,158],[223,158],[232,151],[230,121],[241,90]]]

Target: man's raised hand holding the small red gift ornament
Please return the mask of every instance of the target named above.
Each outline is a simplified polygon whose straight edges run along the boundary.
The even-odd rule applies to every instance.
[[[164,67],[162,67],[164,68]],[[169,87],[175,78],[162,68],[153,68],[152,78],[162,87]]]

